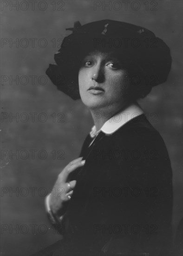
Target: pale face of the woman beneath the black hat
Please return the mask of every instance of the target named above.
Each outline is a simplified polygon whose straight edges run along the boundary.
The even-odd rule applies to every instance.
[[[93,110],[120,108],[127,101],[127,81],[127,71],[114,54],[91,52],[78,73],[81,100]]]

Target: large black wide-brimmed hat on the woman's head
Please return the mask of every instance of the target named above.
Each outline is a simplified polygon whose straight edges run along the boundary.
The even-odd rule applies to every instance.
[[[50,64],[46,74],[59,90],[72,99],[80,98],[78,70],[82,58],[89,51],[114,51],[122,57],[124,66],[137,66],[150,86],[166,81],[171,67],[170,48],[150,30],[115,20],[99,20],[81,26],[74,23],[72,34],[66,36],[55,64]]]

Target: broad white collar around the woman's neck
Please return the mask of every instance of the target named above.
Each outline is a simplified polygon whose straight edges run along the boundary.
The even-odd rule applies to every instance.
[[[98,132],[96,131],[96,127],[94,125],[91,128],[90,136],[91,138],[94,138],[100,131],[104,132],[106,135],[111,135],[121,128],[125,123],[142,114],[144,114],[144,112],[137,102],[132,103],[127,108],[124,108],[122,111],[108,119]]]

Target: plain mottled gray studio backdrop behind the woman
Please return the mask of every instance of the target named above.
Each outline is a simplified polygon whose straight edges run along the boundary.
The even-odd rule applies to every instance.
[[[30,255],[61,236],[47,220],[45,195],[61,169],[78,157],[93,122],[81,101],[72,101],[46,81],[45,71],[64,36],[71,33],[65,28],[77,20],[144,26],[171,49],[168,80],[140,105],[169,151],[175,231],[182,218],[182,1],[0,3],[1,255]]]

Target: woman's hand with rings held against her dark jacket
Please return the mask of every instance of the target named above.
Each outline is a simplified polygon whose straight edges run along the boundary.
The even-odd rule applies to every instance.
[[[82,167],[85,164],[85,160],[82,161],[83,157],[79,157],[61,171],[58,179],[54,185],[54,195],[50,195],[50,208],[54,216],[59,217],[66,211],[69,200],[71,199],[73,189],[76,186],[76,181],[70,181],[69,175],[77,168]],[[53,191],[53,190],[52,190]]]

